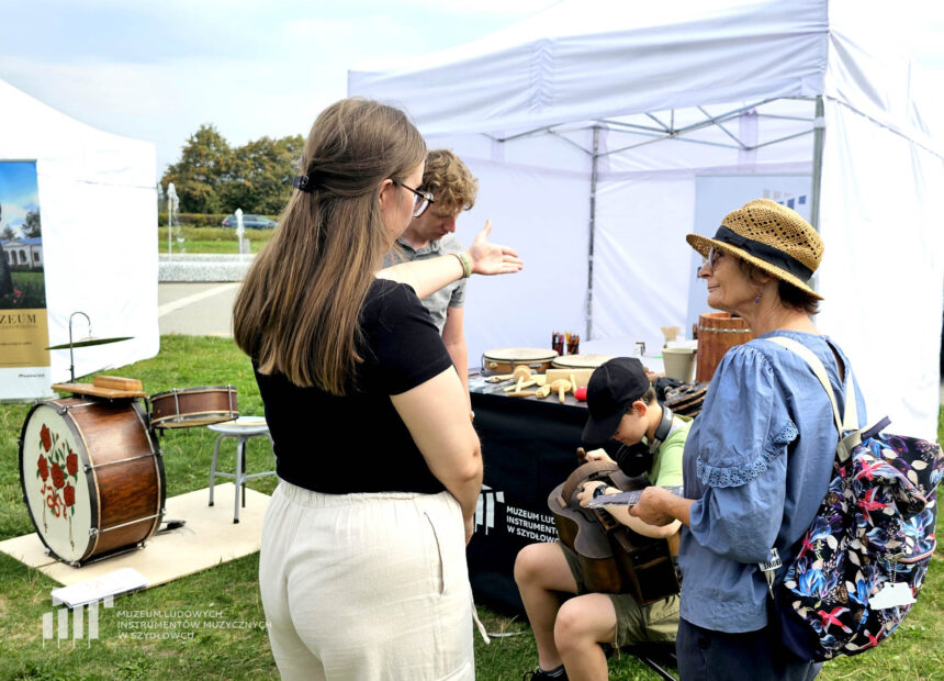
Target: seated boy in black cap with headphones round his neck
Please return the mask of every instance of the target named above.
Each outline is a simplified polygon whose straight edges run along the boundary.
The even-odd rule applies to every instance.
[[[585,445],[599,446],[610,438],[627,446],[645,443],[651,455],[644,470],[649,482],[682,485],[682,450],[692,422],[673,416],[659,404],[639,359],[617,357],[597,368],[587,386],[587,411]],[[623,457],[617,458],[626,468]],[[603,449],[596,449],[587,454],[587,460],[610,459]],[[581,504],[586,505],[600,493],[619,492],[603,485],[585,484],[578,494]],[[606,509],[644,536],[668,537],[678,531],[677,521],[658,527],[630,516],[626,506]],[[589,592],[576,554],[560,543],[522,548],[515,560],[515,581],[538,646],[539,667],[530,672],[533,680],[606,679],[607,662],[600,644],[619,647],[675,640],[678,596],[640,606],[630,594]],[[562,604],[560,593],[576,598]]]

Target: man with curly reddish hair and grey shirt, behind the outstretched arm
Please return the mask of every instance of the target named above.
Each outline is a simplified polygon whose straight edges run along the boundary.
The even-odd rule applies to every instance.
[[[479,182],[465,164],[448,149],[432,149],[426,157],[423,185],[416,188],[432,194],[432,204],[396,239],[395,252],[387,254],[384,265],[401,260],[425,260],[465,248],[456,237],[456,219],[475,203]],[[469,392],[469,357],[462,326],[465,302],[465,279],[460,279],[423,300],[432,321],[442,334],[442,342],[452,364]]]

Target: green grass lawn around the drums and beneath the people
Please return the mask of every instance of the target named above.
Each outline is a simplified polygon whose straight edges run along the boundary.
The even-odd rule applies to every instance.
[[[262,413],[249,362],[227,338],[164,336],[156,358],[110,369],[108,373],[141,379],[149,394],[171,388],[232,383],[238,390],[241,413]],[[0,540],[34,532],[22,502],[18,462],[18,438],[29,410],[27,404],[0,404]],[[939,438],[942,429],[939,421]],[[161,436],[168,496],[206,487],[213,442],[206,428],[177,429]],[[223,461],[221,457],[223,465],[232,465],[232,457],[228,459]],[[250,450],[249,472],[265,470],[270,464],[268,457],[258,453],[252,456]],[[270,494],[274,478],[260,478],[248,484]],[[74,646],[71,641],[57,645],[53,639],[44,646],[43,615],[54,610],[49,590],[57,584],[37,570],[0,555],[0,679],[277,679],[256,582],[258,559],[255,554],[121,596],[113,610],[100,611],[98,640],[78,640]],[[891,639],[866,655],[829,662],[819,678],[944,679],[942,563],[944,549],[939,548],[919,603]],[[120,628],[123,618],[133,617],[135,612],[151,611],[170,617],[187,610],[214,611],[218,613],[214,622],[245,623],[240,626],[246,628],[204,625],[183,632],[193,634],[186,639],[131,639]],[[479,613],[488,632],[519,635],[494,638],[490,646],[476,636],[477,678],[520,679],[537,660],[527,621],[522,615],[509,616],[482,606]],[[610,679],[658,679],[627,655],[611,658],[609,665]]]

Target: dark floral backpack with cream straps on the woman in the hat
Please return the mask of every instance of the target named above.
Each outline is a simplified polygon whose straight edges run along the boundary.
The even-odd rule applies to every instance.
[[[784,645],[806,660],[853,656],[887,638],[908,614],[935,547],[935,488],[944,473],[936,443],[880,435],[884,418],[857,428],[852,380],[844,420],[822,362],[790,338],[769,338],[802,357],[829,394],[840,433],[833,476],[786,572],[772,549],[760,563]]]

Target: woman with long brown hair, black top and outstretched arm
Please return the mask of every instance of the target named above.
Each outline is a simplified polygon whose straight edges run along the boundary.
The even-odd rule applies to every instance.
[[[328,107],[236,299],[236,343],[252,359],[280,478],[259,582],[286,679],[474,677],[464,547],[482,460],[417,294],[520,260],[486,227],[464,254],[375,276],[431,200],[414,189],[425,158],[402,111]]]

